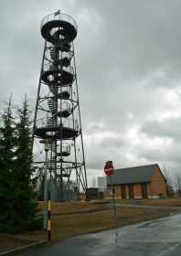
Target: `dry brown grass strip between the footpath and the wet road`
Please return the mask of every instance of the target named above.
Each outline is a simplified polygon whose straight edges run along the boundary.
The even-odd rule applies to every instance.
[[[118,226],[133,224],[149,219],[158,219],[176,212],[172,208],[150,209],[150,208],[117,208]],[[52,216],[52,240],[64,240],[69,237],[97,232],[115,227],[112,209],[96,211],[91,213],[76,213],[69,215]],[[28,232],[25,234],[29,239],[42,240],[45,234],[41,231]]]

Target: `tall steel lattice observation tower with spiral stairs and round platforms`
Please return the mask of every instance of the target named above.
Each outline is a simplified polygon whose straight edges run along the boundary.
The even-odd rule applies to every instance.
[[[48,146],[48,180],[56,185],[59,200],[66,199],[68,189],[85,191],[87,188],[73,44],[77,32],[76,21],[59,11],[45,16],[41,22],[45,46],[32,148],[35,152],[37,143]],[[35,159],[37,169],[44,169],[44,156],[41,161]]]

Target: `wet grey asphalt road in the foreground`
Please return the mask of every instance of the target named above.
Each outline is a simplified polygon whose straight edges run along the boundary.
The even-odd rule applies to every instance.
[[[181,214],[120,229],[82,235],[25,256],[180,256]]]

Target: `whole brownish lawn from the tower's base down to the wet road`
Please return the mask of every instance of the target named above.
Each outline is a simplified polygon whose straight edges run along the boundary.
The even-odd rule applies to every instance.
[[[42,211],[43,205],[39,204]],[[94,212],[93,212],[94,210]],[[133,223],[166,217],[169,214],[181,213],[174,208],[117,208],[118,226],[122,227]],[[54,203],[52,205],[52,241],[65,240],[69,237],[98,232],[115,227],[112,208],[88,202],[78,203]],[[47,240],[43,230],[30,231],[14,236],[29,240]],[[4,247],[5,239],[0,236],[1,249]]]

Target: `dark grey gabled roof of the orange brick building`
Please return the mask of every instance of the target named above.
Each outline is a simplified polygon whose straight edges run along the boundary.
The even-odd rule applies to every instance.
[[[159,165],[142,165],[114,170],[112,180],[107,176],[107,185],[123,185],[150,182]]]

